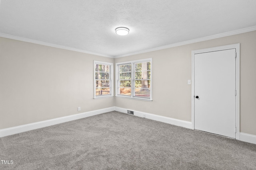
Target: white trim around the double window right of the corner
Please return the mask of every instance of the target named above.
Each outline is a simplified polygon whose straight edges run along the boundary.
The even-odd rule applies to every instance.
[[[144,98],[144,97],[136,97],[134,95],[134,64],[136,63],[141,63],[141,62],[150,62],[150,98]],[[118,77],[119,77],[119,72],[118,72],[118,65],[120,64],[132,64],[132,87],[131,87],[131,96],[126,96],[122,94],[118,94]],[[140,59],[140,60],[134,60],[134,61],[126,61],[126,62],[121,62],[121,63],[116,63],[116,88],[115,88],[115,96],[118,98],[128,98],[128,99],[135,99],[135,100],[144,100],[144,101],[150,101],[152,102],[152,58],[148,59]]]

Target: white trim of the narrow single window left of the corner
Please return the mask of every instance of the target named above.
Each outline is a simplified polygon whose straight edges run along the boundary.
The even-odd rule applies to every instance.
[[[96,79],[95,79],[95,74],[96,74],[96,70],[95,70],[95,65],[96,64],[107,64],[110,65],[110,94],[104,95],[104,96],[96,96]],[[104,62],[104,61],[95,61],[94,60],[94,64],[93,64],[93,68],[94,68],[94,99],[100,99],[100,98],[110,98],[114,96],[114,73],[113,73],[113,63],[108,63],[108,62]]]

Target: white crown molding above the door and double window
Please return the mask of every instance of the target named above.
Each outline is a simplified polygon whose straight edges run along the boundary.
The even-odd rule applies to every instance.
[[[238,29],[238,30],[230,31],[230,32],[226,32],[226,33],[211,35],[211,36],[207,36],[207,37],[202,37],[202,38],[198,38],[198,39],[192,39],[192,40],[189,40],[189,41],[183,41],[183,42],[180,42],[180,43],[164,45],[164,46],[161,46],[161,47],[156,47],[156,48],[147,49],[147,50],[143,50],[143,51],[137,51],[135,53],[129,53],[129,54],[126,54],[126,55],[115,56],[114,58],[116,59],[116,58],[120,58],[120,57],[127,57],[127,56],[131,56],[131,55],[136,55],[136,54],[148,53],[148,52],[151,52],[151,51],[157,51],[157,50],[162,50],[162,49],[168,49],[168,48],[171,48],[171,47],[178,47],[178,46],[181,46],[181,45],[198,43],[198,42],[201,42],[201,41],[207,41],[207,40],[211,40],[211,39],[227,37],[227,36],[230,36],[230,35],[236,35],[236,34],[246,33],[246,32],[250,32],[250,31],[256,31],[256,26],[248,27],[248,28],[244,28],[244,29]]]

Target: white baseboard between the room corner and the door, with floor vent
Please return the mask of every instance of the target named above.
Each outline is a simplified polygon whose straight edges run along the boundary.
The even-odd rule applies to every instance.
[[[127,113],[127,110],[134,111],[134,115],[138,116],[138,117],[144,117],[146,119],[161,121],[161,122],[169,123],[169,124],[176,125],[176,126],[186,127],[188,129],[191,129],[191,127],[192,127],[190,121],[183,121],[183,120],[179,120],[179,119],[173,119],[173,118],[170,118],[170,117],[164,117],[164,116],[160,116],[160,115],[154,115],[154,114],[151,114],[151,113],[145,113],[145,112],[142,112],[142,111],[136,111],[136,110],[132,110],[132,109],[125,109],[125,108],[122,108],[122,107],[115,107],[115,111],[119,111],[119,112],[122,112],[122,113]]]

